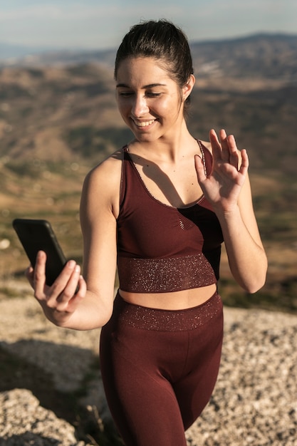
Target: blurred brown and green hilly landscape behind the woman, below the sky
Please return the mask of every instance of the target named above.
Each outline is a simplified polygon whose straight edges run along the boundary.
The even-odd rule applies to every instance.
[[[223,289],[230,304],[296,311],[297,36],[193,43],[192,52],[197,85],[189,128],[202,140],[210,128],[226,128],[248,150],[270,260],[265,289],[246,299],[223,256]],[[131,138],[115,106],[113,58],[114,51],[51,53],[2,64],[1,277],[26,264],[11,229],[14,217],[50,219],[66,253],[81,259],[83,178]]]

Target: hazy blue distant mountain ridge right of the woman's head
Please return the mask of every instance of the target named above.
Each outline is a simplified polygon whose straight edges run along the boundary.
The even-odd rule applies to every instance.
[[[192,45],[199,73],[240,78],[283,78],[297,81],[297,34],[259,33],[244,38]]]

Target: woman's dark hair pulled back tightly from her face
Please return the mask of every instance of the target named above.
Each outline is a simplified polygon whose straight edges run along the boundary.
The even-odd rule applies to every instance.
[[[194,72],[187,37],[167,20],[145,21],[130,28],[115,58],[115,79],[120,63],[129,57],[152,57],[161,63],[163,60],[162,68],[170,73],[180,88],[186,85]]]

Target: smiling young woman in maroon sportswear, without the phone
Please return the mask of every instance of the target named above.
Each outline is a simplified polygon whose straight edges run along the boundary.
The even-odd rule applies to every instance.
[[[115,81],[135,139],[85,179],[83,276],[69,261],[49,288],[43,252],[27,275],[53,323],[103,327],[101,372],[125,445],[182,446],[219,370],[222,242],[246,291],[257,291],[266,277],[249,161],[224,130],[219,137],[211,130],[210,142],[190,135],[184,116],[192,58],[173,24],[133,26],[118,49]]]

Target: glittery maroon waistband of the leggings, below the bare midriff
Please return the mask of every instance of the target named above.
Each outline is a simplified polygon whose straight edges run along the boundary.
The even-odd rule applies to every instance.
[[[223,305],[221,297],[215,292],[204,304],[183,310],[162,310],[130,304],[118,292],[114,308],[113,316],[118,318],[120,324],[142,330],[187,331],[222,316]]]

